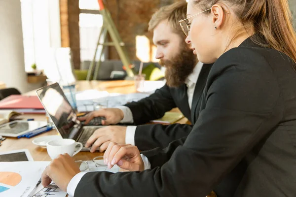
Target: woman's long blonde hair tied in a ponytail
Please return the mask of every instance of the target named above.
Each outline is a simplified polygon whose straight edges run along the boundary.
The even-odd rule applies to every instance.
[[[253,26],[255,34],[251,39],[255,43],[283,52],[296,62],[296,33],[287,0],[194,0],[193,2],[203,10],[220,2],[231,5],[245,28],[249,24]]]

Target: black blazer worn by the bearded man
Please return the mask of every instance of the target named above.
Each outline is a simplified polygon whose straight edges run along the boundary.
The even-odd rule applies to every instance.
[[[203,65],[195,85],[191,110],[188,105],[187,87],[185,84],[178,88],[170,88],[167,85],[155,91],[148,98],[138,102],[131,102],[129,107],[136,125],[147,123],[150,120],[161,118],[165,112],[178,107],[192,124],[198,118],[201,103],[201,95],[205,87],[212,65]],[[166,147],[170,142],[185,137],[192,130],[192,125],[141,125],[135,132],[135,145],[139,150]]]

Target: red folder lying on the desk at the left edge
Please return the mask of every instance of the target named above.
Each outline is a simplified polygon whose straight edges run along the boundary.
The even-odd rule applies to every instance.
[[[37,96],[10,95],[0,101],[0,109],[44,109]]]

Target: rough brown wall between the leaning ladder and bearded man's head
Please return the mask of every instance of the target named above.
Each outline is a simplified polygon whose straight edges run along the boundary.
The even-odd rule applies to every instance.
[[[178,0],[108,0],[106,7],[125,43],[131,60],[136,57],[136,36],[145,35],[152,45],[153,33],[148,32],[148,22],[152,14],[161,6]],[[119,59],[114,47],[109,47],[109,59]]]

